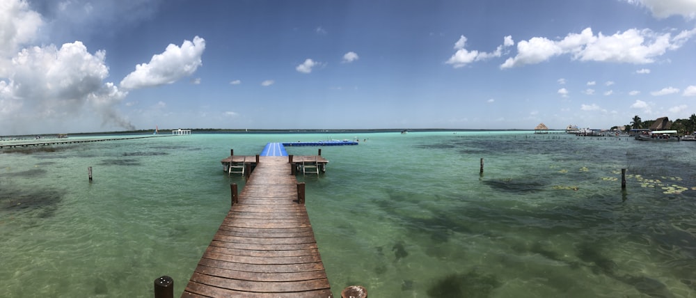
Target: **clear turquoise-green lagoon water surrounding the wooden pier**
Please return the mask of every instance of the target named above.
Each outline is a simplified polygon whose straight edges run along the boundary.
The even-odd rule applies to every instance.
[[[530,132],[2,150],[2,296],[152,297],[162,275],[178,296],[226,216],[230,182],[244,185],[222,172],[230,148],[355,137],[322,148],[324,175],[298,177],[335,297],[354,284],[370,297],[696,297],[696,142]]]

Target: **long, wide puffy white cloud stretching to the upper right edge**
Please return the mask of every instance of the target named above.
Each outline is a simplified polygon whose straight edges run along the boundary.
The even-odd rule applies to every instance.
[[[668,50],[679,49],[696,29],[672,33],[654,33],[649,29],[628,29],[611,36],[599,33],[596,36],[591,28],[582,32],[569,33],[562,40],[534,37],[517,43],[517,55],[507,58],[500,68],[513,68],[536,64],[555,56],[569,54],[573,60],[599,61],[611,63],[653,63],[655,58]]]

